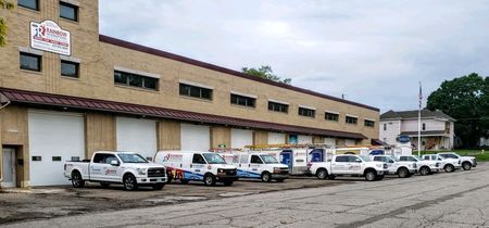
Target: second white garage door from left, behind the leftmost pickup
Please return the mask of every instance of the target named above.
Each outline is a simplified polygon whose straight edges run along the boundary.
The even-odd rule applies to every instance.
[[[116,118],[117,151],[130,151],[152,160],[156,153],[156,122],[139,118]]]

